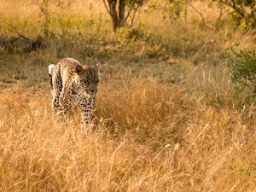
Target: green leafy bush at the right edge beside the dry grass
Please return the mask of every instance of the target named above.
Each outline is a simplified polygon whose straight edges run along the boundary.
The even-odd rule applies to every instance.
[[[231,79],[236,90],[256,96],[256,53],[230,48],[227,50]]]

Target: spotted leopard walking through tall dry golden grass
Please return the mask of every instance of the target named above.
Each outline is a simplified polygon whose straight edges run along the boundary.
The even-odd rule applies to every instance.
[[[98,64],[82,65],[73,58],[63,58],[48,67],[55,124],[63,122],[73,108],[80,108],[82,130],[91,125],[99,84]]]

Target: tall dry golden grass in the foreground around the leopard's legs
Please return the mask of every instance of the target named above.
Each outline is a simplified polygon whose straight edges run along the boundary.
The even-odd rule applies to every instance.
[[[113,86],[115,90],[113,90]],[[216,109],[153,79],[101,84],[96,131],[56,129],[49,90],[0,95],[1,191],[253,191],[255,136]]]

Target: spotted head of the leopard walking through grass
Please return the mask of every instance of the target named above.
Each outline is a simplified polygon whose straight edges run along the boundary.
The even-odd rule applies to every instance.
[[[97,85],[99,83],[98,65],[77,65],[75,72],[78,74],[76,83],[79,91],[86,93],[87,96],[96,96]]]

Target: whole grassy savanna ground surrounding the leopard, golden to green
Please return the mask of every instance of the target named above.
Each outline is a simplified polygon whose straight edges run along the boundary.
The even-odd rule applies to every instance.
[[[256,191],[256,108],[224,57],[233,44],[255,49],[255,32],[196,8],[207,26],[194,9],[173,21],[145,6],[137,27],[113,33],[102,1],[52,6],[47,18],[28,0],[1,1],[0,190]],[[43,45],[11,42],[18,34]],[[86,136],[79,114],[61,129],[51,119],[47,67],[67,56],[101,62]]]

